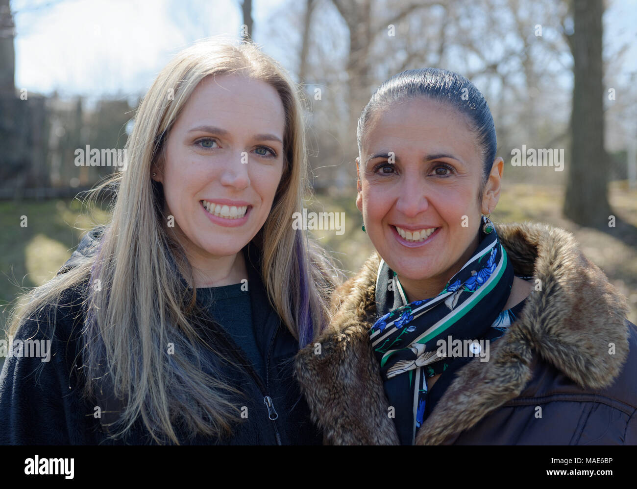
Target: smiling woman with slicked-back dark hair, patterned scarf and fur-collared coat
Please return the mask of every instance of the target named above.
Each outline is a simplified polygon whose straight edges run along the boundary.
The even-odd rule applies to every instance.
[[[503,160],[476,87],[442,69],[397,74],[357,139],[376,252],[297,355],[326,442],[637,443],[626,299],[568,232],[490,222]]]

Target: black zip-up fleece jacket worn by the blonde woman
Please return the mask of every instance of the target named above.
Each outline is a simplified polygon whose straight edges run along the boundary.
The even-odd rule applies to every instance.
[[[75,266],[83,256],[92,255],[102,231],[89,232],[60,273]],[[292,378],[297,341],[269,304],[258,272],[259,257],[254,250],[246,249],[245,253],[255,336],[267,376],[261,379],[247,364],[247,356],[229,334],[218,334],[218,327],[204,322],[209,327],[206,333],[217,340],[215,346],[234,351],[235,362],[244,365],[236,368],[214,362],[245,394],[236,402],[247,407],[248,415],[233,427],[233,436],[222,443],[320,444],[320,431],[311,423],[308,406]],[[96,418],[95,407],[103,407],[104,399],[82,396],[82,301],[82,290],[67,290],[57,307],[46,309],[37,321],[24,322],[15,334],[14,339],[52,339],[51,357],[50,362],[37,357],[6,358],[0,374],[0,444],[154,444],[141,420],[125,439],[109,439],[104,423],[117,418],[120,406],[107,395],[110,404],[106,402],[108,409],[104,411],[116,412]],[[217,443],[203,436],[187,440],[180,432],[177,435],[182,444]]]

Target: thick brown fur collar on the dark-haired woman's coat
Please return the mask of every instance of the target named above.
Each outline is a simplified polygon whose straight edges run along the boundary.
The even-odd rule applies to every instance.
[[[626,299],[571,234],[542,224],[496,224],[516,274],[540,279],[517,322],[493,344],[489,362],[471,361],[420,428],[417,444],[440,444],[467,430],[531,379],[538,355],[585,389],[613,383],[628,355]],[[367,331],[375,322],[377,253],[334,294],[334,316],[299,351],[297,378],[331,444],[397,444]],[[615,343],[616,354],[608,355]],[[319,351],[320,348],[320,351]],[[599,358],[604,357],[604,362]]]

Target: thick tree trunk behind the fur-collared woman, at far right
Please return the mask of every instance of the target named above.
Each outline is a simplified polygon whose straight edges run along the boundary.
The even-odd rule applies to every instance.
[[[573,0],[571,159],[564,216],[580,225],[608,225],[608,159],[604,148],[602,0]]]

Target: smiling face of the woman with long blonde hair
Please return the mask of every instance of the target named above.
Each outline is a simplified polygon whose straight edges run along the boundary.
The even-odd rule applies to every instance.
[[[236,255],[266,222],[284,131],[283,104],[264,81],[208,76],[192,92],[153,178],[193,265]]]

